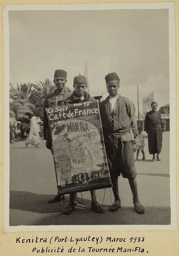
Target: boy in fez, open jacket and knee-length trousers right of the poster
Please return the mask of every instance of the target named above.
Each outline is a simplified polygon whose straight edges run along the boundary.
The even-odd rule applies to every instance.
[[[133,195],[134,209],[144,214],[145,209],[138,198],[137,172],[134,162],[134,134],[137,123],[134,120],[135,107],[131,100],[118,94],[120,79],[117,73],[105,76],[109,96],[100,103],[104,144],[113,185],[114,204],[109,211],[120,208],[118,176],[127,178]],[[133,126],[133,127],[132,127]]]

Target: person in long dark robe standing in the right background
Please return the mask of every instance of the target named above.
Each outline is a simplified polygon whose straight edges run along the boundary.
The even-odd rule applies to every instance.
[[[157,106],[157,102],[151,103],[151,111],[147,112],[144,120],[144,129],[148,133],[148,150],[153,155],[152,162],[155,161],[155,154],[160,161],[159,154],[162,149],[161,114],[156,111]]]

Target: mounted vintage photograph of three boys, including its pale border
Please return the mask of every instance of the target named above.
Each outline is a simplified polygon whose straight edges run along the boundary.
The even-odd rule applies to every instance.
[[[175,228],[172,5],[14,5],[3,19],[5,230]]]

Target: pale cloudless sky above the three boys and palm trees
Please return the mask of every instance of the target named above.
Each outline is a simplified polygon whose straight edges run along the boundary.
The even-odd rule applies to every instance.
[[[139,108],[154,92],[158,107],[169,103],[168,10],[9,11],[10,83],[53,80],[65,69],[67,86],[84,75],[89,93],[107,97],[104,77],[116,72],[121,95]]]

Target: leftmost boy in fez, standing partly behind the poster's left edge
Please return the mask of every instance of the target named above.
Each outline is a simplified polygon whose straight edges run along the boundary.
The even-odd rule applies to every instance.
[[[65,84],[67,82],[66,77],[67,77],[67,72],[65,70],[62,70],[62,69],[55,70],[53,82],[56,86],[56,89],[54,90],[54,92],[49,93],[45,97],[45,101],[44,101],[44,116],[43,116],[44,139],[46,140],[47,149],[50,149],[51,151],[52,151],[52,141],[50,138],[50,128],[48,126],[48,118],[47,118],[47,113],[45,111],[45,108],[62,105],[64,104],[64,100],[71,95],[71,92],[65,89]],[[62,200],[63,199],[64,199],[64,195],[62,196]],[[61,195],[56,195],[52,200],[50,199],[48,203],[54,203],[60,200],[61,200]]]

